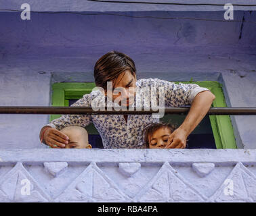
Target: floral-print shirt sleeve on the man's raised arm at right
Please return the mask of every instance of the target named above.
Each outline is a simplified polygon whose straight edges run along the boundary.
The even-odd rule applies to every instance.
[[[208,88],[198,86],[198,84],[175,84],[174,82],[159,80],[157,78],[152,79],[152,81],[154,82],[154,86],[165,88],[165,106],[167,107],[191,105],[196,94],[209,90]]]

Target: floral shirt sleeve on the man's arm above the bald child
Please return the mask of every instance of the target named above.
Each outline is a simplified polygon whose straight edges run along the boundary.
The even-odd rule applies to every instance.
[[[71,107],[90,107],[90,101],[90,94],[85,94],[82,99],[73,103]],[[56,128],[57,130],[62,130],[62,128],[67,126],[81,126],[85,128],[91,122],[91,115],[62,115],[58,119],[50,121],[47,126]]]

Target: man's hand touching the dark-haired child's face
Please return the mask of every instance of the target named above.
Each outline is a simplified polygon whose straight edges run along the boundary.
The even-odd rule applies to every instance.
[[[182,128],[177,128],[168,138],[165,148],[186,148],[188,133]]]

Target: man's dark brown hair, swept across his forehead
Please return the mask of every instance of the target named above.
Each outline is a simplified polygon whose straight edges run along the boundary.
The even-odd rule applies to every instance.
[[[125,70],[129,70],[135,76],[136,68],[133,59],[117,51],[106,53],[98,59],[94,66],[96,86],[106,90],[107,82],[114,82]]]

